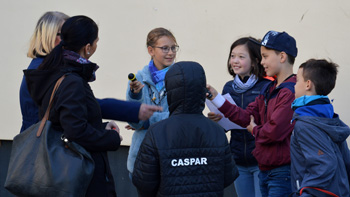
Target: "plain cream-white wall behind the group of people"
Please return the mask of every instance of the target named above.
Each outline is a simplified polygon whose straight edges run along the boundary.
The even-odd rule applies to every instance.
[[[177,61],[198,61],[208,83],[220,91],[230,80],[226,61],[233,41],[242,36],[262,38],[269,30],[286,31],[297,40],[295,72],[309,58],[331,59],[340,65],[330,98],[335,111],[350,124],[350,1],[1,0],[0,139],[12,139],[20,130],[18,92],[22,70],[30,62],[27,47],[46,11],[87,15],[99,24],[100,41],[91,58],[100,65],[92,83],[99,98],[125,99],[127,74],[148,63],[145,40],[155,27],[170,29],[180,45]],[[119,125],[123,144],[130,144],[132,131],[124,129],[125,123]]]

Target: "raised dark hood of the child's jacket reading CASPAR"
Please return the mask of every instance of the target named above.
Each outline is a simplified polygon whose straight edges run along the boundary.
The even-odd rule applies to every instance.
[[[175,63],[165,75],[170,115],[201,114],[205,107],[206,78],[196,62]]]

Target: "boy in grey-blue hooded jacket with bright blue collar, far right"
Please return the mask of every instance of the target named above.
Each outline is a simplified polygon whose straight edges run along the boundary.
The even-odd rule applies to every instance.
[[[350,196],[349,127],[327,95],[333,90],[337,65],[311,59],[301,64],[292,103],[291,180],[296,196]]]

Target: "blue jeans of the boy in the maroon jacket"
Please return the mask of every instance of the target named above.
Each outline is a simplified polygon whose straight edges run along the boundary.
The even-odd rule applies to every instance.
[[[290,165],[260,171],[259,180],[263,197],[285,197],[292,193]]]

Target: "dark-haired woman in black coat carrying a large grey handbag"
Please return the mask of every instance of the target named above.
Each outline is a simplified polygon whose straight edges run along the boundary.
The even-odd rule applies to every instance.
[[[63,24],[61,42],[36,70],[25,70],[28,90],[43,116],[53,86],[66,78],[56,92],[49,120],[65,137],[91,153],[95,171],[86,196],[116,196],[107,151],[117,150],[121,136],[114,122],[102,123],[101,110],[88,82],[98,66],[89,61],[98,42],[98,27],[86,16],[74,16]],[[116,129],[115,129],[116,128]]]

